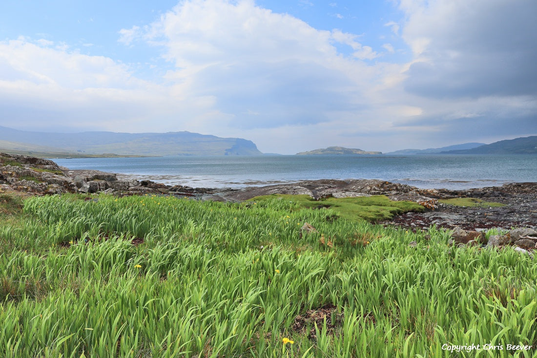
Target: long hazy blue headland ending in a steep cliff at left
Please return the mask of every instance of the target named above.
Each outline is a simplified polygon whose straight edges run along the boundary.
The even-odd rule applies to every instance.
[[[0,141],[15,142],[18,151],[118,155],[261,155],[257,146],[242,138],[220,138],[191,132],[168,133],[46,133],[0,126]],[[13,146],[13,145],[11,145]],[[39,148],[37,148],[37,147]],[[0,142],[0,148],[2,148]],[[10,149],[10,148],[3,148]],[[14,148],[11,148],[14,150]]]

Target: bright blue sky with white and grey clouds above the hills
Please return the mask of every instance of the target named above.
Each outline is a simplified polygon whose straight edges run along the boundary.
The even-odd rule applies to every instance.
[[[264,153],[537,135],[535,0],[2,0],[0,126]]]

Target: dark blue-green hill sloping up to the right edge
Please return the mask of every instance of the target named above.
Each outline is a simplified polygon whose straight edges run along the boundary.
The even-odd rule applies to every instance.
[[[465,151],[446,151],[442,154],[537,154],[537,135],[500,140]]]

